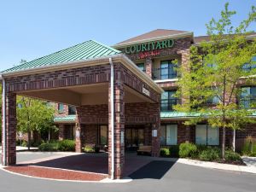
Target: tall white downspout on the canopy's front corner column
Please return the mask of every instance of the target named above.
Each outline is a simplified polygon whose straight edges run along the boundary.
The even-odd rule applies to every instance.
[[[114,104],[113,104],[113,61],[112,58],[109,58],[110,63],[110,104],[111,104],[111,179],[113,180],[114,175],[114,123],[113,123],[113,116],[114,116]]]

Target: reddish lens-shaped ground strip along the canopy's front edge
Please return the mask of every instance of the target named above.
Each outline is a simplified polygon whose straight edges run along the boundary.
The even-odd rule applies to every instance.
[[[44,177],[65,180],[79,180],[79,181],[100,181],[107,175],[95,174],[89,172],[73,172],[68,170],[51,169],[38,166],[8,166],[4,169],[10,172],[16,172],[33,177]]]

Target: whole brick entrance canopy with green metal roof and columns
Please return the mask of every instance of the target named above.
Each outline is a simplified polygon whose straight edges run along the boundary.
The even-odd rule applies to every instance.
[[[108,173],[121,177],[125,122],[152,125],[152,155],[160,151],[163,91],[119,50],[87,41],[2,73],[3,165],[16,162],[16,94],[77,107],[76,150],[84,125],[108,125]]]

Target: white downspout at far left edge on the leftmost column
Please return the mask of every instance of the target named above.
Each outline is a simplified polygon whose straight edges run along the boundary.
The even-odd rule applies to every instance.
[[[5,79],[3,79],[3,76],[1,75],[2,79],[2,101],[3,101],[3,166],[6,166],[6,119],[5,119],[5,113],[6,113],[6,102],[5,102]]]

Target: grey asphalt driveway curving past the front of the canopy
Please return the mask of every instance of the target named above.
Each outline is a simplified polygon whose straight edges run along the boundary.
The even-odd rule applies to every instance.
[[[19,160],[32,160],[34,154],[18,153]],[[44,154],[45,156],[45,154]],[[38,154],[37,157],[38,158]],[[252,191],[256,176],[247,173],[224,172],[165,160],[154,160],[131,173],[131,183],[74,183],[22,177],[0,171],[1,191],[9,192],[70,192],[70,191]]]

